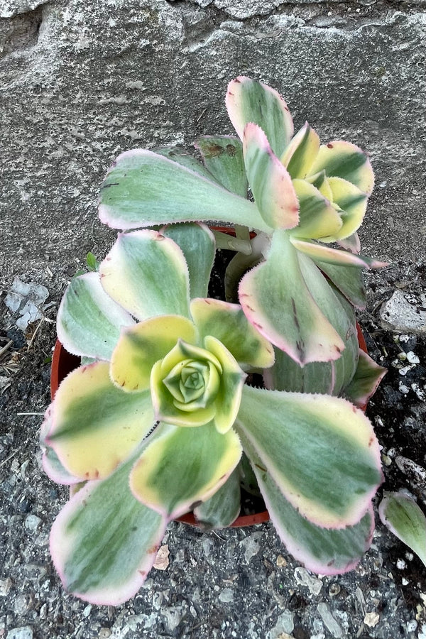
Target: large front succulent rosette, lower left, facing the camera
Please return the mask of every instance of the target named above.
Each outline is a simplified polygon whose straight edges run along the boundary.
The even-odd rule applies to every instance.
[[[47,474],[72,488],[53,561],[86,601],[133,596],[172,518],[195,509],[229,525],[243,451],[308,568],[349,570],[371,542],[382,477],[371,423],[341,398],[245,383],[273,348],[239,305],[206,297],[213,256],[197,224],[119,234],[61,302],[58,337],[82,366],[60,384],[41,445]]]

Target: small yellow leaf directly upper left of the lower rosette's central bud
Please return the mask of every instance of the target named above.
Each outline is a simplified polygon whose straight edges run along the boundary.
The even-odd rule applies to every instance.
[[[195,343],[195,325],[180,315],[161,315],[122,332],[111,357],[111,379],[124,391],[150,388],[151,369],[179,339]]]

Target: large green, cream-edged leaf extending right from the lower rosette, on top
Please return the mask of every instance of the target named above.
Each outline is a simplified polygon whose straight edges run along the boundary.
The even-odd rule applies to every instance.
[[[285,498],[315,525],[355,525],[381,484],[373,427],[341,398],[245,386],[235,429]]]

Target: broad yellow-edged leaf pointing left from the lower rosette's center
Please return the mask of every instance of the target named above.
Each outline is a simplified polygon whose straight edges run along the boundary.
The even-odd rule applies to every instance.
[[[102,479],[129,457],[153,422],[149,390],[124,393],[109,379],[109,364],[99,362],[62,381],[46,443],[75,477]]]

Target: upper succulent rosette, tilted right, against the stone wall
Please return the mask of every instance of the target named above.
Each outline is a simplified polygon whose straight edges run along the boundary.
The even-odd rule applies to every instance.
[[[371,164],[354,144],[321,144],[309,124],[293,135],[284,100],[256,80],[230,82],[226,107],[239,138],[200,138],[204,165],[176,149],[120,155],[102,185],[100,218],[118,229],[191,220],[255,229],[245,262],[255,268],[239,286],[246,317],[300,366],[336,361],[346,344],[330,282],[361,308],[361,268],[383,266],[357,254]]]

